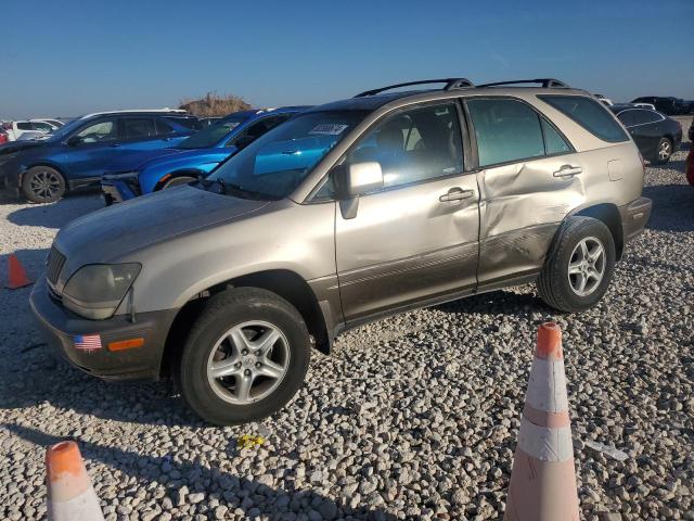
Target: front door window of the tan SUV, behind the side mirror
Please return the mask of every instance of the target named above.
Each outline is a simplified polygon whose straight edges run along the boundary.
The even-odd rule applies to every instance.
[[[384,188],[463,171],[454,103],[428,105],[387,117],[347,153],[345,163],[377,162]]]

